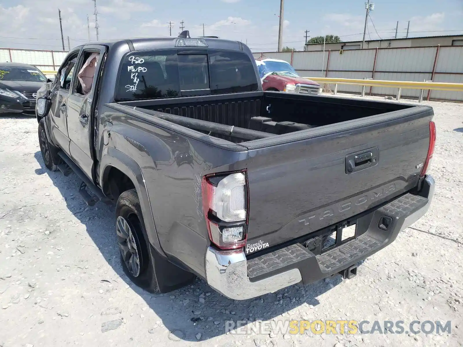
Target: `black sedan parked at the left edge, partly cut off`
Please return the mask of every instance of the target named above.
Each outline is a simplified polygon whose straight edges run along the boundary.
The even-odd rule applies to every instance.
[[[0,114],[35,115],[37,91],[46,81],[35,66],[0,62]]]

